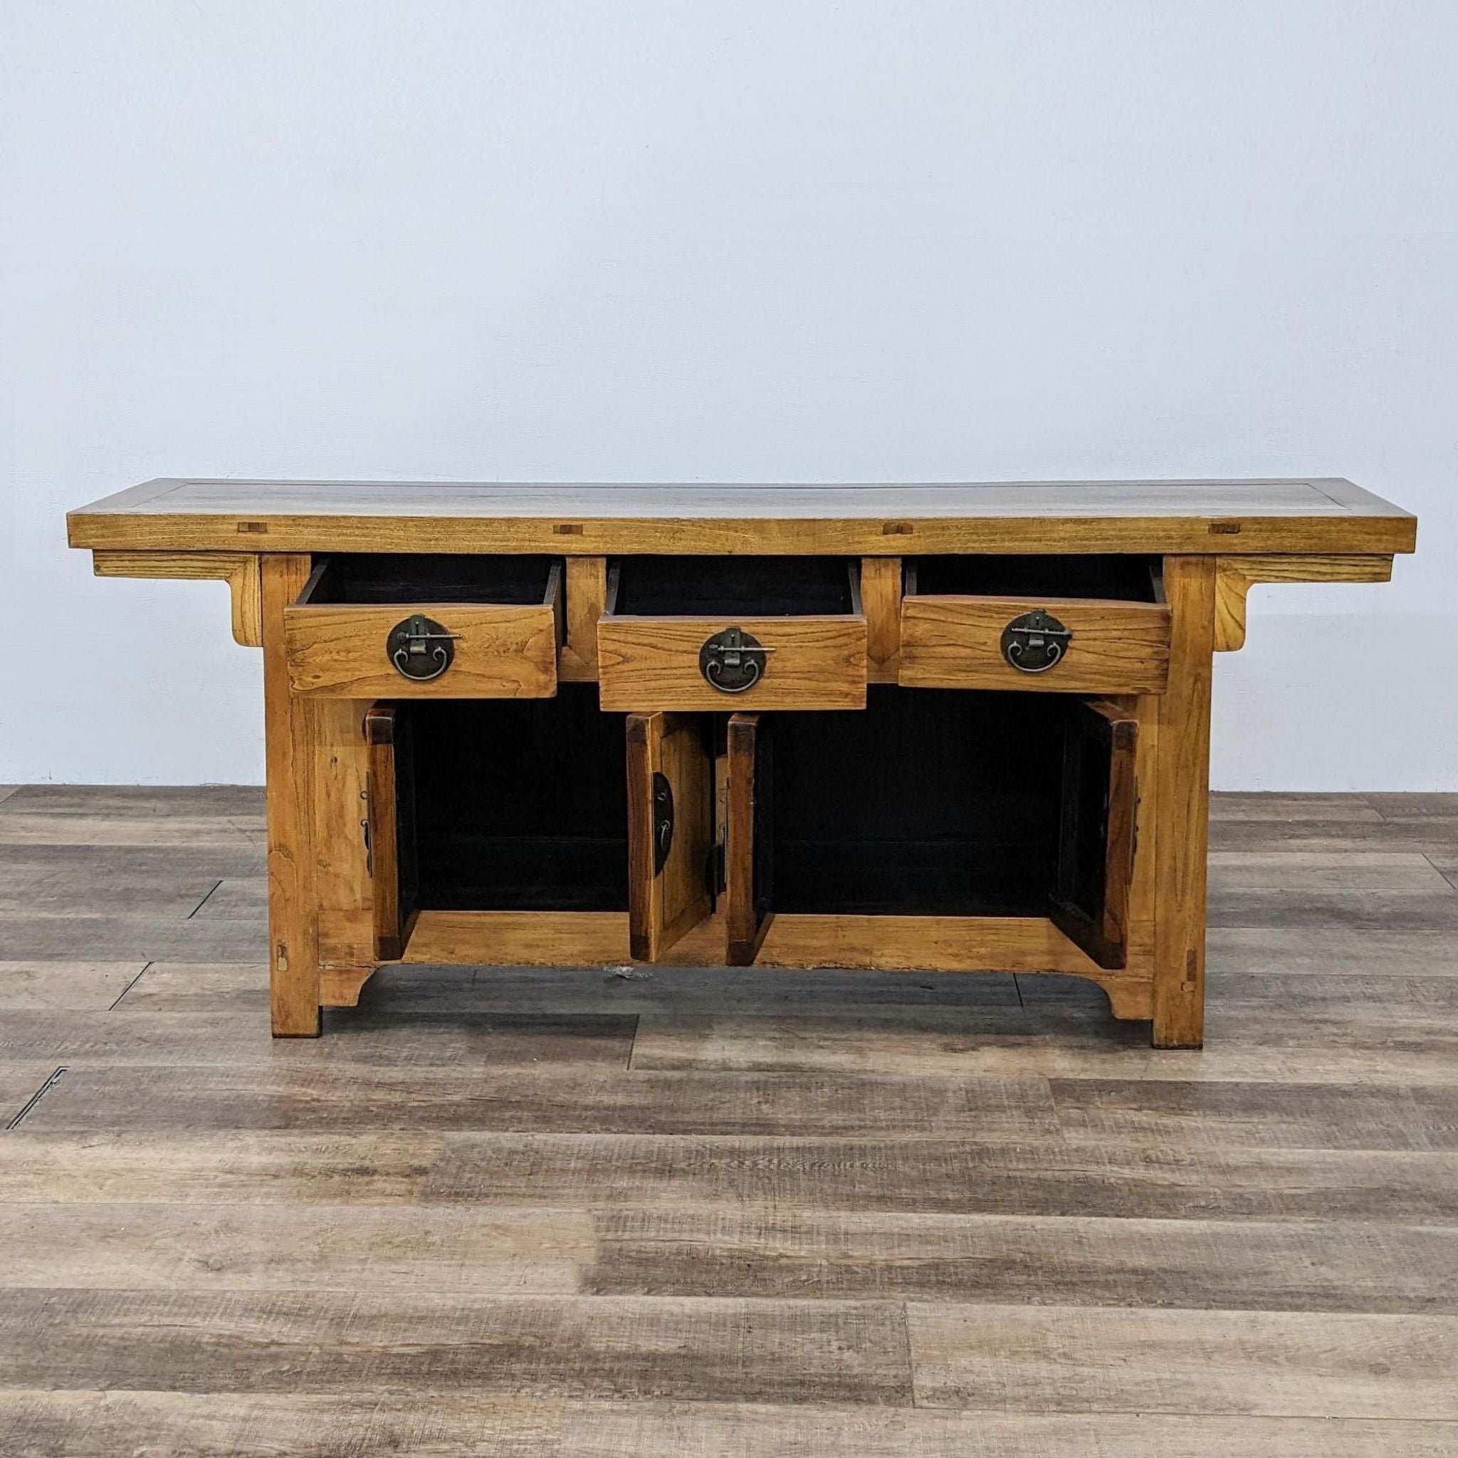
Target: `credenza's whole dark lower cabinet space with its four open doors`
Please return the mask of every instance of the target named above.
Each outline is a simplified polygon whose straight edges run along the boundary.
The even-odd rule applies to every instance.
[[[671,959],[722,911],[730,964],[822,914],[1051,917],[1124,965],[1117,701],[873,685],[865,710],[609,714],[564,684],[378,704],[366,735],[381,956],[424,910],[625,911],[631,955]]]

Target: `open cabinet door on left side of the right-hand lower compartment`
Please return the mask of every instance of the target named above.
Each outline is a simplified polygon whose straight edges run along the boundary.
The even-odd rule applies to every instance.
[[[760,955],[774,916],[770,808],[774,752],[767,714],[730,714],[725,795],[725,932],[730,967]]]

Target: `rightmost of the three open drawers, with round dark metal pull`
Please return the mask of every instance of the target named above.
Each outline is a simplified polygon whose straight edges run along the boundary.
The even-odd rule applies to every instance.
[[[1158,558],[923,557],[905,566],[900,682],[1161,694],[1169,607]]]

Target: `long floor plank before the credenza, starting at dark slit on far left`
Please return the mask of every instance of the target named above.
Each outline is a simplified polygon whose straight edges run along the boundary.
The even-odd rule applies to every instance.
[[[191,1067],[181,1054],[171,1066],[153,1053],[105,1064],[102,1057],[71,1059],[71,1067],[26,1115],[28,1133],[80,1130],[185,1131],[198,1124],[219,1130],[334,1131],[351,1128],[426,1133],[528,1130],[539,1134],[601,1133],[752,1134],[776,1137],[789,1127],[828,1139],[961,1134],[989,1143],[1029,1140],[1057,1133],[1047,1083],[1038,1077],[967,1076],[929,1080],[919,1076],[850,1073],[627,1070],[631,1025],[596,1019],[586,1029],[529,1032],[516,1040],[504,1029],[491,1038],[483,1021],[474,1037],[452,1037],[436,1026],[405,1051],[385,1057],[388,1040],[328,1063],[286,1066],[235,1057]],[[577,1019],[579,1026],[588,1019]],[[327,1040],[322,1047],[344,1042]],[[515,1042],[515,1047],[513,1047]],[[573,1047],[572,1044],[576,1044]],[[481,1053],[493,1053],[481,1063]],[[532,1053],[537,1057],[532,1057]],[[430,1067],[429,1057],[455,1066]],[[420,1063],[427,1072],[421,1072]],[[537,1064],[535,1067],[532,1064]],[[413,1066],[414,1064],[414,1066]],[[516,1196],[513,1203],[534,1204]]]

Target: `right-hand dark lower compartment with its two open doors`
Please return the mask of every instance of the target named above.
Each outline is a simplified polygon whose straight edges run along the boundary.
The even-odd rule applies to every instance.
[[[735,714],[728,961],[786,913],[1047,917],[1124,967],[1137,732],[1121,704],[1048,694],[873,687],[857,714]]]

